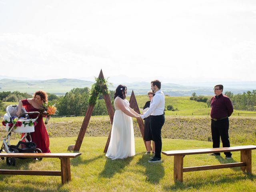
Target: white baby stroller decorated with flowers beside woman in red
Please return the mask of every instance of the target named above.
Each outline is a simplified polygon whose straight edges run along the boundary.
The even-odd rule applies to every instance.
[[[20,116],[16,116],[18,111],[17,105],[9,105],[6,108],[6,114],[4,114],[3,124],[6,126],[6,131],[8,132],[7,136],[3,139],[3,143],[1,146],[1,152],[7,153],[42,153],[39,148],[36,148],[36,144],[32,142],[32,138],[30,136],[31,132],[34,132],[35,122],[38,119],[40,113],[39,112],[26,112],[25,108],[22,107]],[[28,114],[37,114],[36,118],[29,118]],[[24,136],[19,140],[18,144],[11,145],[10,144],[10,136],[11,133],[24,133]],[[25,142],[23,142],[23,140]],[[40,161],[42,158],[35,158]],[[3,161],[4,158],[1,157],[0,161]],[[16,158],[7,157],[6,158],[7,165],[16,164]]]

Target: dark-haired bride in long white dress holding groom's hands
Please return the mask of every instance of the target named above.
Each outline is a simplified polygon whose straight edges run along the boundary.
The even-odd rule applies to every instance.
[[[110,144],[106,156],[114,159],[124,159],[135,155],[134,131],[132,118],[139,118],[139,114],[126,100],[127,88],[118,85],[114,95],[115,114],[111,130]]]

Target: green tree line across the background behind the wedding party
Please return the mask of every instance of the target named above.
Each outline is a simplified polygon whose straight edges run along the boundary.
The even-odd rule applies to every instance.
[[[114,108],[114,91],[109,91],[110,100]],[[236,110],[256,111],[256,90],[247,91],[243,94],[233,94],[230,91],[224,93],[228,96]],[[28,93],[14,92],[0,92],[0,110],[4,110],[6,106],[3,102],[17,102],[22,99],[31,98],[32,95]],[[64,96],[56,96],[55,94],[48,93],[48,101],[50,104],[54,104],[58,109],[58,115],[75,115],[84,116],[88,107],[88,101],[90,98],[90,89],[85,88],[73,88],[70,92],[67,92]],[[196,96],[194,92],[190,100],[198,102],[206,102],[210,107],[210,99],[205,96]],[[176,110],[172,106],[167,106],[167,110]],[[108,111],[102,94],[99,95],[92,115],[107,115]]]

